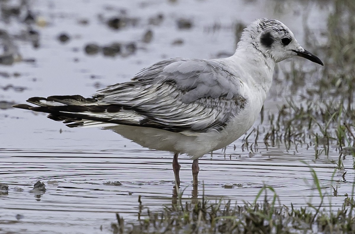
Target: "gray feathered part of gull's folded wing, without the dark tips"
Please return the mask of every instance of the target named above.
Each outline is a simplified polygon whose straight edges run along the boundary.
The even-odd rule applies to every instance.
[[[223,129],[244,108],[247,100],[239,90],[239,79],[219,63],[175,58],[155,63],[132,81],[108,86],[93,98],[144,116],[134,125],[205,132]]]

